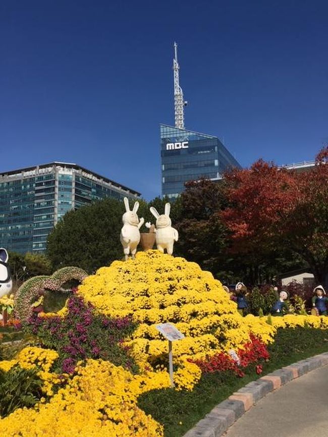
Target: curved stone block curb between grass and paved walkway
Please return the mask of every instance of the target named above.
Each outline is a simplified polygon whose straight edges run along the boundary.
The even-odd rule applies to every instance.
[[[279,389],[292,379],[328,364],[328,352],[290,364],[268,373],[238,390],[216,405],[183,437],[220,437],[247,410],[268,393]]]

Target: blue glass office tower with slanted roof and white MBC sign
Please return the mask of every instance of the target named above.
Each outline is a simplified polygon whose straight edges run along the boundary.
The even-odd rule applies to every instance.
[[[229,168],[241,169],[222,142],[212,135],[160,125],[162,196],[177,197],[185,182],[222,179]]]

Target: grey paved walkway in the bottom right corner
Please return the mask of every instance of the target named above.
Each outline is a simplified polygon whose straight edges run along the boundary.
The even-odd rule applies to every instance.
[[[225,437],[327,437],[328,365],[257,402]]]

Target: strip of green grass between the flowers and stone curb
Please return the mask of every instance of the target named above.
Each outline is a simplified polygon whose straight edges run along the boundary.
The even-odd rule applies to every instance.
[[[261,375],[256,374],[254,365],[246,369],[243,378],[228,372],[207,373],[192,392],[152,390],[139,397],[138,406],[164,425],[165,437],[180,437],[216,404],[250,381],[296,361],[327,352],[328,330],[303,327],[279,329],[275,343],[268,350],[270,360],[263,364]]]

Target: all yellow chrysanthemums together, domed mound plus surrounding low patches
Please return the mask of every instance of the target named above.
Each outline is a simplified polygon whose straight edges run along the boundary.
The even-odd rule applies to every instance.
[[[279,327],[328,328],[328,317],[287,315],[272,317],[271,324],[267,317],[242,317],[209,272],[184,258],[155,250],[100,268],[83,281],[78,293],[108,316],[130,316],[139,322],[125,344],[140,373],[133,375],[108,361],[88,359],[78,363],[73,376],[60,377],[51,372],[58,358],[56,351],[25,348],[15,360],[0,362],[0,369],[8,371],[15,364],[36,368],[44,381],[44,395],[50,400],[42,398],[34,408],[18,409],[0,419],[1,435],[162,436],[162,426],[137,406],[141,393],[170,387],[163,366],[168,341],[157,331],[158,323],[171,322],[185,335],[173,346],[178,390],[192,390],[201,376],[190,358],[238,350],[249,341],[250,333],[267,344],[274,341]],[[65,316],[66,311],[64,308],[60,315]],[[54,394],[53,387],[59,383],[64,387]]]

